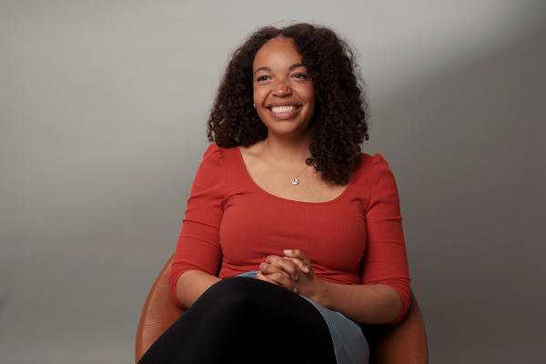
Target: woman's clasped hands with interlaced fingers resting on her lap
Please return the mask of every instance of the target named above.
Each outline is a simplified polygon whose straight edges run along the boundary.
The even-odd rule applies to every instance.
[[[315,276],[311,260],[299,249],[284,250],[284,257],[268,256],[256,278],[318,301],[323,281]]]

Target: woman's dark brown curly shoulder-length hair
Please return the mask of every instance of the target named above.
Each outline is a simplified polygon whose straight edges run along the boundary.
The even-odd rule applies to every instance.
[[[327,27],[296,24],[258,29],[234,52],[218,87],[207,137],[219,147],[248,147],[268,136],[252,106],[252,65],[259,48],[278,36],[292,38],[313,82],[311,157],[306,161],[329,183],[346,185],[368,140],[367,104],[349,45]]]

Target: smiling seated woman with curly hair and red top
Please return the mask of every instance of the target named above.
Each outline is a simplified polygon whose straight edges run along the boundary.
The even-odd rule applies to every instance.
[[[410,278],[394,177],[361,154],[365,104],[331,30],[266,27],[227,66],[170,274],[187,312],[141,360],[368,360]],[[236,277],[243,276],[243,277]]]

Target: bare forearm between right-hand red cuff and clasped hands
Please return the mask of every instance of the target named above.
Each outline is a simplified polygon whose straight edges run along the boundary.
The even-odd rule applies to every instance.
[[[400,298],[387,285],[345,285],[319,279],[319,289],[309,297],[364,324],[386,324],[399,316]]]

